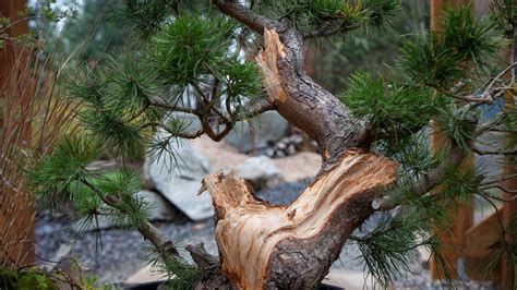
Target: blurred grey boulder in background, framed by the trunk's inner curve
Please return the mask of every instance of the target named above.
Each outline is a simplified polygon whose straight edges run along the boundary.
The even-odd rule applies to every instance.
[[[278,112],[267,111],[249,121],[237,122],[225,140],[239,152],[249,153],[280,141],[288,129],[289,123]]]

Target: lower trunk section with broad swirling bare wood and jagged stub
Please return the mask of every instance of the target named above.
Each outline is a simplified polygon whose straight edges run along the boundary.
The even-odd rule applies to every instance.
[[[347,152],[286,207],[256,200],[233,172],[206,178],[223,273],[244,289],[317,287],[347,237],[372,214],[371,201],[395,181],[397,167]]]

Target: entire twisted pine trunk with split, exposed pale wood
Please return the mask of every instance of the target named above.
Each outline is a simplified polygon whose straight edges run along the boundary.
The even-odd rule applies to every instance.
[[[257,63],[269,101],[318,143],[322,170],[288,206],[257,200],[233,172],[213,174],[203,184],[213,197],[220,271],[230,288],[312,289],[373,213],[372,201],[394,184],[398,164],[369,153],[366,125],[306,75],[299,32],[284,32],[281,41],[275,31],[264,36]]]

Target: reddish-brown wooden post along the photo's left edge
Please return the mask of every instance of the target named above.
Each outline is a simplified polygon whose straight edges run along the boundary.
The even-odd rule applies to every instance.
[[[25,10],[25,0],[0,0],[0,16],[11,22],[19,20],[17,12]],[[28,22],[21,21],[11,26],[7,33],[10,37],[28,33]],[[5,41],[0,49],[0,97],[4,97],[12,84],[16,83],[27,58],[26,48]],[[22,62],[21,62],[22,61]],[[26,64],[26,62],[23,62]],[[11,80],[11,81],[10,81]],[[22,78],[23,80],[23,78]],[[2,129],[4,124],[0,120]],[[21,142],[27,141],[29,130]],[[35,262],[34,253],[34,209],[31,197],[23,191],[7,190],[13,188],[1,183],[0,190],[0,266],[23,266]]]

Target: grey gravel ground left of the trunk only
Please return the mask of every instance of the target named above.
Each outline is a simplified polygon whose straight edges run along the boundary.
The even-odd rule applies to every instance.
[[[155,226],[179,245],[187,241],[194,244],[203,242],[209,253],[217,254],[213,238],[214,222],[211,220],[184,225],[155,222]],[[64,249],[68,253],[69,245],[73,245],[71,256],[80,261],[85,273],[96,275],[100,282],[110,283],[121,283],[143,268],[151,247],[135,230],[106,229],[77,235],[70,216],[50,217],[48,214],[38,218],[36,244],[39,262],[46,265],[58,259],[56,254],[60,247],[59,252]]]

